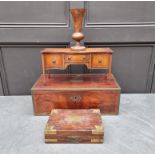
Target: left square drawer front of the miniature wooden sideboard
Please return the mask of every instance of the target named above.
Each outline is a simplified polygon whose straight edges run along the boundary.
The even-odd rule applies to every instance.
[[[45,54],[44,61],[45,61],[46,68],[63,67],[63,55],[60,55],[60,54]]]

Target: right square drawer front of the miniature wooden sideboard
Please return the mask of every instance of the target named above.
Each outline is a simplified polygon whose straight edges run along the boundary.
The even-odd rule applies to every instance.
[[[93,54],[92,68],[107,68],[109,55],[108,54]]]

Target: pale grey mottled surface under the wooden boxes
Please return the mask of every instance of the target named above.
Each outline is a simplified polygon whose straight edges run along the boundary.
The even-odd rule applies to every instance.
[[[45,144],[47,116],[31,96],[0,97],[0,153],[155,153],[155,94],[121,95],[118,116],[103,116],[104,144]]]

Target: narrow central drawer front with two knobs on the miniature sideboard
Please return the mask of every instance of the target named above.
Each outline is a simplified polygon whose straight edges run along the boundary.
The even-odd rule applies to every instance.
[[[88,62],[90,60],[89,54],[67,54],[65,55],[65,62]]]

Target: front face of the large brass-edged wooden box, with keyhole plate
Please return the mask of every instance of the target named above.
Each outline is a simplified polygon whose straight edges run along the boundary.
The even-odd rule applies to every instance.
[[[33,92],[36,115],[48,115],[52,109],[94,109],[117,114],[119,91],[40,91]]]

